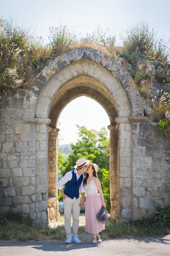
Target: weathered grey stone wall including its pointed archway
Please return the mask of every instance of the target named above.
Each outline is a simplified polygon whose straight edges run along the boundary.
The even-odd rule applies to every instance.
[[[31,213],[42,225],[48,214],[58,220],[57,120],[82,95],[97,100],[110,118],[111,218],[151,216],[162,198],[167,202],[170,140],[143,116],[127,71],[102,52],[80,48],[50,62],[31,89],[0,102],[1,213]]]

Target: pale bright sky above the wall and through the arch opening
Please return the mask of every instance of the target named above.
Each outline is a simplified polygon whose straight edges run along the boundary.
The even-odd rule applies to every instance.
[[[32,31],[35,30],[34,34],[42,36],[44,40],[47,40],[49,27],[52,26],[67,25],[86,35],[92,33],[99,24],[103,31],[106,28],[113,31],[119,43],[122,29],[142,21],[149,24],[150,31],[153,28],[157,32],[158,39],[162,38],[166,42],[170,38],[170,1],[7,0],[2,1],[0,7],[1,18],[3,16],[4,19],[10,20],[12,16],[12,20],[16,19],[18,25],[31,27]],[[82,105],[79,109],[75,107],[75,101]],[[60,137],[63,138],[61,144],[77,141],[76,124],[97,131],[110,124],[105,110],[99,103],[87,97],[80,97],[70,102],[62,111],[59,122]]]

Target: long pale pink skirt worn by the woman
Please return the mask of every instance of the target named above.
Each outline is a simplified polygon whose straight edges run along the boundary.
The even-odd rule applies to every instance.
[[[105,229],[104,224],[98,223],[96,215],[102,207],[99,194],[87,194],[85,207],[86,232],[96,234]]]

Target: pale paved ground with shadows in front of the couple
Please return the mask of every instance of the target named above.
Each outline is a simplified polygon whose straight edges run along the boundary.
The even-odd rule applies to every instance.
[[[82,243],[64,241],[0,241],[0,255],[5,256],[169,256],[170,235],[162,237],[107,239],[92,244],[82,236]]]

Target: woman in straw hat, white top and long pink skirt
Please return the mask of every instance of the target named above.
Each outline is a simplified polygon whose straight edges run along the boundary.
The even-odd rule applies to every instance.
[[[104,224],[98,223],[96,215],[101,207],[106,207],[104,202],[101,184],[97,178],[99,167],[97,164],[89,163],[87,167],[86,177],[83,180],[83,186],[86,189],[86,207],[85,220],[86,232],[93,234],[93,243],[101,243],[99,232],[105,229]],[[99,194],[98,194],[99,191]]]

